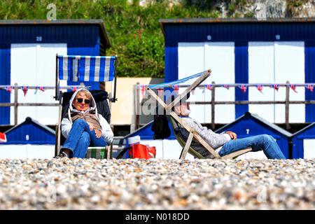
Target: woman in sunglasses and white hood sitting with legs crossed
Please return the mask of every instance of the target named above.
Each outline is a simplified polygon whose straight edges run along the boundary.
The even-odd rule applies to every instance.
[[[62,119],[62,135],[66,138],[59,155],[55,158],[85,158],[87,147],[108,146],[113,141],[109,123],[97,113],[92,94],[80,88],[69,102],[67,118]]]

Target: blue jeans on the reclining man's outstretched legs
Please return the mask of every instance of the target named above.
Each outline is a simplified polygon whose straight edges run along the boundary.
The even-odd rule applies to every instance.
[[[264,151],[268,159],[286,159],[278,144],[276,144],[276,140],[268,134],[260,134],[244,139],[230,140],[223,145],[218,154],[220,156],[228,155],[247,147],[251,147],[253,152],[261,150]]]

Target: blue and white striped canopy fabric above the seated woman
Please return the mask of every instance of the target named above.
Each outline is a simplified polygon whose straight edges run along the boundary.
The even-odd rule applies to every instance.
[[[58,76],[68,81],[112,81],[115,75],[115,56],[58,55]]]

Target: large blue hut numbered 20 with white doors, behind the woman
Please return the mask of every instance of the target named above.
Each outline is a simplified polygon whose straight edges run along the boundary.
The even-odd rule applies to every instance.
[[[18,90],[19,103],[55,104],[55,90],[41,87],[55,86],[56,54],[105,56],[110,46],[102,20],[0,20],[0,85],[25,86],[25,92]],[[99,83],[83,83],[99,89]],[[62,80],[60,85],[80,83]],[[39,91],[27,90],[29,86]],[[2,88],[0,103],[10,102],[14,102],[13,92]],[[13,107],[0,107],[0,114],[0,125],[15,125]],[[55,125],[57,106],[19,106],[17,123],[27,116]]]

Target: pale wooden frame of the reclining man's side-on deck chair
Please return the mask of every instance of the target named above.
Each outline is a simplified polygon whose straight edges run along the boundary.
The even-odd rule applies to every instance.
[[[209,69],[207,71],[204,71],[204,73],[202,74],[202,76],[200,76],[200,78],[195,80],[195,82],[192,85],[190,85],[186,90],[184,90],[178,97],[176,97],[176,99],[174,99],[168,105],[165,104],[165,102],[162,99],[160,99],[160,97],[158,97],[158,95],[155,94],[155,92],[153,90],[151,90],[150,87],[146,87],[146,91],[149,94],[151,94],[151,96],[158,102],[158,104],[160,104],[165,109],[167,115],[170,116],[172,119],[174,119],[174,121],[179,123],[181,125],[181,127],[185,128],[189,132],[188,139],[186,141],[185,146],[183,146],[183,142],[182,141],[179,142],[179,144],[181,144],[181,146],[183,146],[183,150],[181,151],[181,155],[180,155],[180,159],[181,160],[186,158],[186,155],[187,155],[189,149],[190,149],[189,152],[192,153],[192,155],[194,154],[193,152],[195,150],[193,150],[193,148],[190,147],[190,144],[192,143],[193,139],[195,139],[202,146],[204,146],[204,148],[206,148],[207,151],[209,151],[209,153],[211,153],[211,155],[213,155],[214,158],[216,158],[216,159],[233,159],[233,158],[237,158],[239,155],[242,155],[244,153],[248,153],[249,151],[252,150],[250,147],[249,148],[244,148],[244,149],[242,149],[240,151],[236,151],[236,152],[233,152],[233,153],[230,153],[228,155],[225,155],[225,156],[221,157],[214,150],[214,148],[212,148],[207,143],[207,141],[204,141],[204,139],[202,139],[202,137],[200,137],[200,134],[195,132],[195,130],[193,128],[191,128],[190,126],[186,125],[186,123],[184,123],[183,120],[181,120],[181,118],[174,111],[172,111],[172,107],[174,105],[178,104],[181,101],[181,99],[183,99],[183,97],[185,97],[188,94],[188,92],[190,92],[191,90],[195,90],[195,88],[198,85],[200,85],[200,83],[202,83],[204,80],[206,80],[210,76],[210,74],[211,74],[211,69]],[[176,137],[176,139],[177,139],[177,137]],[[197,154],[195,154],[195,155],[197,155]],[[201,158],[201,157],[199,157],[199,158]]]

